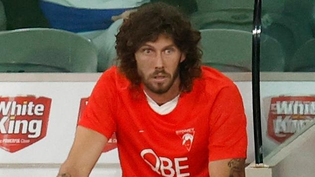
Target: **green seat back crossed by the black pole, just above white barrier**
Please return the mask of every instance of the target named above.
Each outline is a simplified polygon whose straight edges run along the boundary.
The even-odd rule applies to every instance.
[[[225,72],[249,72],[252,59],[252,33],[231,29],[206,29],[201,32],[203,64]],[[284,51],[267,35],[260,39],[260,70],[284,71]]]

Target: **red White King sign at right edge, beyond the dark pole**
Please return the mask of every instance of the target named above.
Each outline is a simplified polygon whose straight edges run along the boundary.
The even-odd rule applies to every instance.
[[[314,96],[281,96],[271,98],[268,135],[282,143],[315,118]]]

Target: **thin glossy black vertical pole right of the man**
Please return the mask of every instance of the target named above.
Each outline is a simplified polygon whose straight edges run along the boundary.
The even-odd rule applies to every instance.
[[[262,164],[262,138],[260,120],[260,32],[261,32],[261,0],[255,0],[252,37],[252,96],[253,121],[256,164]]]

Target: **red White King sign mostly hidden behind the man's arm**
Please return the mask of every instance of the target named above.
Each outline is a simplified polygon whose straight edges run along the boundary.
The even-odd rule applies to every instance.
[[[80,101],[80,108],[79,108],[79,116],[78,116],[78,122],[79,122],[79,119],[81,118],[84,110],[85,110],[85,107],[88,103],[88,98],[81,98],[81,101]],[[116,134],[115,132],[113,133],[112,137],[110,137],[108,139],[108,142],[106,144],[106,146],[104,147],[103,151],[102,152],[108,152],[110,150],[113,150],[117,148],[117,138],[116,138]]]

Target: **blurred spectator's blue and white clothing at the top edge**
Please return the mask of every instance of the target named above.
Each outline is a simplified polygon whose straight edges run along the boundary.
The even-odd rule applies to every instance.
[[[102,30],[112,16],[149,0],[40,0],[40,7],[53,28],[72,32]]]

